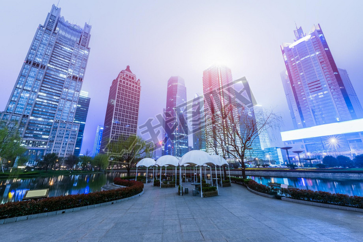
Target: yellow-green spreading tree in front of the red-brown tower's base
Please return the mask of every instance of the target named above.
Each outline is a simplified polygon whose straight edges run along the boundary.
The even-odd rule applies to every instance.
[[[131,135],[120,136],[117,141],[110,141],[107,146],[107,155],[113,163],[119,163],[126,167],[127,176],[130,176],[131,167],[137,160],[150,157],[154,151],[154,143],[147,142],[141,137]]]

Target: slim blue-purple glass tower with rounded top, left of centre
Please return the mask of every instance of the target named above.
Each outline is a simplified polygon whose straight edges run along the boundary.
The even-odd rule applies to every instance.
[[[164,154],[181,157],[188,152],[187,89],[184,79],[168,80],[165,108]]]

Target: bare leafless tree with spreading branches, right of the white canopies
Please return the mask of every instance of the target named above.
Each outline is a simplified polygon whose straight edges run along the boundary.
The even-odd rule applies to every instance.
[[[253,141],[264,131],[278,127],[281,117],[273,112],[258,113],[256,118],[253,109],[242,107],[238,113],[236,107],[228,105],[223,114],[214,114],[214,145],[235,157],[242,167],[242,177],[246,178],[245,158]]]

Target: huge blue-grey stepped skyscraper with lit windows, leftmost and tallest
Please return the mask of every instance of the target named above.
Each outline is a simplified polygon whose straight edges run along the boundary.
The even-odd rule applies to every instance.
[[[87,66],[91,26],[71,24],[52,6],[35,31],[2,120],[19,123],[22,145],[34,158],[75,151],[76,107]]]

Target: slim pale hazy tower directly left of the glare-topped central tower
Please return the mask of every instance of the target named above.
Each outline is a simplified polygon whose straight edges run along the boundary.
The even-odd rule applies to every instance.
[[[206,151],[204,98],[196,94],[192,104],[193,149]]]

